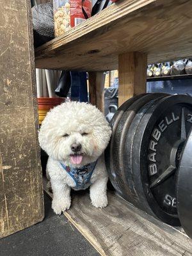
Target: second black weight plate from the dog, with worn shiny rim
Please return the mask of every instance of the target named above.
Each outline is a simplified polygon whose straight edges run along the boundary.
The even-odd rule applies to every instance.
[[[124,143],[127,130],[134,116],[143,105],[152,99],[159,99],[159,97],[164,97],[165,95],[164,93],[148,93],[143,95],[140,99],[134,100],[131,106],[125,110],[124,115],[122,115],[116,127],[116,132],[113,137],[113,150],[111,151],[111,159],[113,159],[113,166],[111,166],[111,168],[113,168],[113,171],[116,173],[116,182],[118,183],[120,195],[125,199],[127,199],[127,194],[129,195],[131,193],[129,186],[127,186],[125,182],[124,175]]]

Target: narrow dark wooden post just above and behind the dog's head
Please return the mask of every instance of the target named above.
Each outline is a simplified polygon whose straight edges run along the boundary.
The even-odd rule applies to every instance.
[[[90,103],[104,113],[104,72],[89,72]]]

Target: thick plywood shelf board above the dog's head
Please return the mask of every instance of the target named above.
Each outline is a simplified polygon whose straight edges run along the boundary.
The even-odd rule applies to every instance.
[[[36,49],[36,67],[115,70],[118,55],[147,52],[148,63],[192,56],[190,0],[123,0]]]

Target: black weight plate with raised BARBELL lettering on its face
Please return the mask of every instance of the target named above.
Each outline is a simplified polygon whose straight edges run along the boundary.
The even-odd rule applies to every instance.
[[[132,145],[132,172],[138,197],[145,195],[156,216],[175,226],[180,225],[175,173],[186,134],[191,129],[188,122],[191,114],[192,100],[187,95],[159,100],[143,116]]]

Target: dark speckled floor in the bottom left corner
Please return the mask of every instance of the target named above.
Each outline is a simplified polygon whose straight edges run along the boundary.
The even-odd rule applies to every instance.
[[[99,253],[65,218],[56,216],[45,195],[45,219],[0,240],[1,256],[98,256]]]

